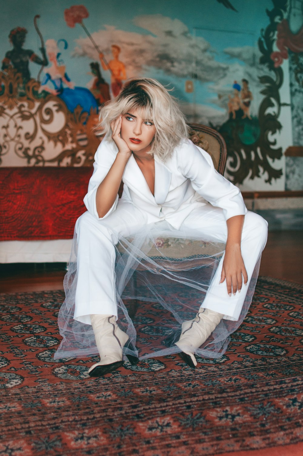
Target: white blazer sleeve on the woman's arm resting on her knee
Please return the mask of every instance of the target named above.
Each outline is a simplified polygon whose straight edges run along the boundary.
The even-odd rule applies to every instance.
[[[191,140],[185,140],[178,150],[178,167],[190,179],[193,189],[215,207],[221,207],[225,220],[247,212],[238,187],[214,169],[211,156]]]

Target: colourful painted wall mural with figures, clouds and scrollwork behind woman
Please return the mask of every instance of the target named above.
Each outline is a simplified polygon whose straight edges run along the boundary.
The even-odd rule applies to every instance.
[[[28,3],[3,11],[1,166],[90,166],[99,107],[146,76],[223,135],[226,177],[284,190],[283,151],[302,141],[301,0]]]

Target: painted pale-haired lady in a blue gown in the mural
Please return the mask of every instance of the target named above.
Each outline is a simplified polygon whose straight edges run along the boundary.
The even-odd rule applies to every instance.
[[[45,90],[61,98],[70,112],[73,112],[78,105],[82,107],[82,112],[89,113],[91,109],[98,112],[97,102],[89,89],[74,87],[74,84],[68,77],[66,67],[60,59],[61,53],[59,52],[57,41],[52,39],[47,40],[45,46],[51,66],[44,69],[45,76],[39,91],[42,92],[42,90]],[[52,83],[52,88],[47,85],[48,82]],[[64,85],[67,88],[64,88]]]

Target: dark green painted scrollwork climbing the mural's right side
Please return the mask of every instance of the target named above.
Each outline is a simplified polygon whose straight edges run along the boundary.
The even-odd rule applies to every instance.
[[[279,91],[283,82],[283,71],[281,67],[274,66],[271,55],[277,24],[285,16],[287,0],[273,0],[273,5],[272,10],[266,10],[270,23],[265,30],[261,30],[258,40],[260,63],[266,65],[271,73],[271,76],[259,77],[264,98],[259,106],[258,116],[251,120],[229,119],[217,127],[227,144],[226,171],[235,184],[243,183],[247,177],[255,179],[261,175],[265,175],[265,181],[271,183],[273,179],[282,176],[282,169],[273,166],[275,160],[282,158],[282,148],[277,147],[277,141],[272,137],[282,129],[278,118],[282,106]]]

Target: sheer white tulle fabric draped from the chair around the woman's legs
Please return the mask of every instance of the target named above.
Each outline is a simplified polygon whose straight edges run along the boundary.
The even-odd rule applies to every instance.
[[[116,233],[117,238],[119,234]],[[140,359],[164,356],[181,350],[169,337],[191,320],[203,306],[225,244],[201,240],[201,233],[173,229],[166,222],[141,228],[132,238],[119,238],[115,246],[118,325],[127,332],[136,349],[124,349]],[[230,334],[242,323],[254,294],[258,260],[238,321],[221,320],[212,335],[195,353],[219,358]],[[59,311],[58,325],[63,340],[55,358],[83,358],[98,354],[92,326],[73,320],[77,286],[77,236],[68,272],[64,278],[66,299]],[[170,340],[171,339],[171,340]],[[178,340],[178,338],[177,338]]]

